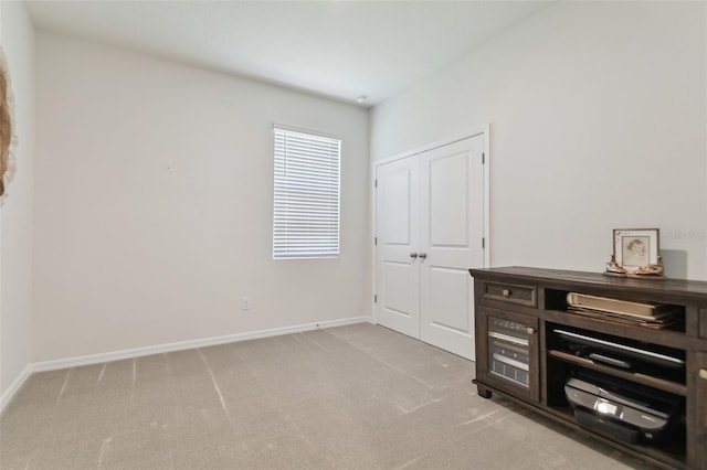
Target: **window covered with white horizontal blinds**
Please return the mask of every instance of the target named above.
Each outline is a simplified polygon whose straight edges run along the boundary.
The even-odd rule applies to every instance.
[[[273,258],[339,255],[341,140],[275,127]]]

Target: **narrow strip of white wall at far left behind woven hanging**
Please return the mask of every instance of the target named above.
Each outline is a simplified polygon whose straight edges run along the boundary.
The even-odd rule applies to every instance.
[[[0,404],[29,372],[34,191],[34,29],[23,2],[0,2],[0,42],[14,95],[17,173],[0,209]]]

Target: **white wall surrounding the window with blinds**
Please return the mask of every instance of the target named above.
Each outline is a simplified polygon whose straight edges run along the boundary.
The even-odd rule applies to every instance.
[[[344,138],[339,259],[272,260],[273,122]],[[33,361],[370,316],[368,146],[365,109],[40,32]]]

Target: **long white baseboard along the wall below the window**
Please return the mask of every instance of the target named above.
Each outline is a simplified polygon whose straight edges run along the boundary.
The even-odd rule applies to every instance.
[[[235,343],[239,341],[255,340],[258,338],[279,337],[282,334],[302,333],[305,331],[319,330],[324,328],[344,327],[347,324],[356,323],[372,323],[372,321],[373,320],[371,317],[352,317],[341,320],[327,320],[316,323],[304,323],[293,327],[272,328],[268,330],[250,331],[246,333],[226,334],[224,337],[203,338],[199,340],[181,341],[177,343],[157,344],[154,346],[134,348],[129,350],[113,351],[107,353],[80,355],[74,357],[57,359],[53,361],[42,361],[31,364],[31,372],[55,371],[57,368],[101,364],[104,362],[120,361],[124,359],[139,357],[144,355],[161,354],[166,352],[190,350],[194,348],[213,346],[217,344]]]

